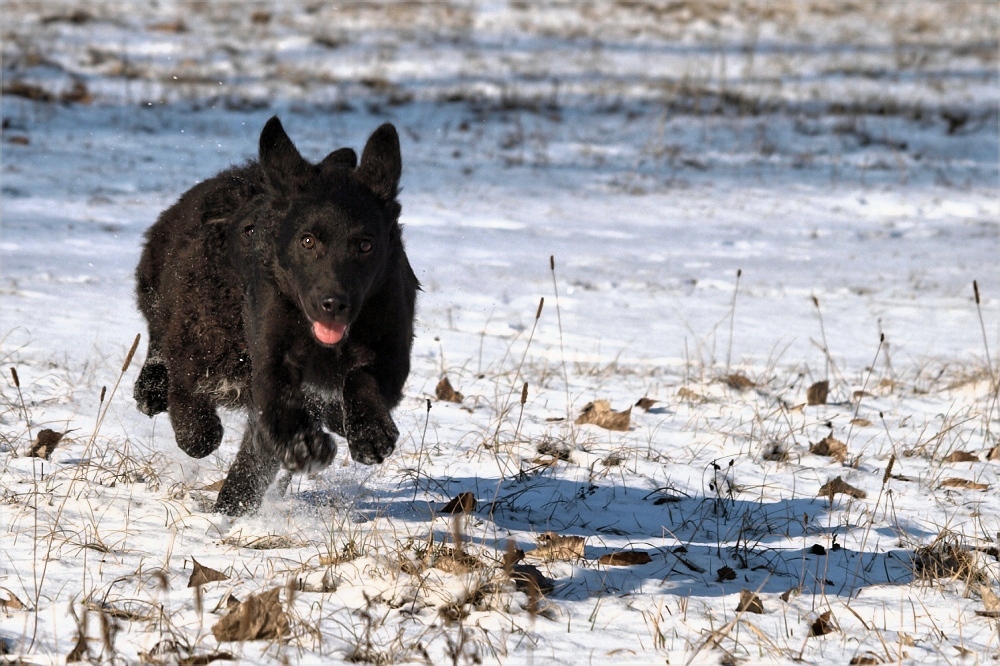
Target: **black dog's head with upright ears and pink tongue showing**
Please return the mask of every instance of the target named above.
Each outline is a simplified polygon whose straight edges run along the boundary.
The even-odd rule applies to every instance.
[[[302,310],[315,341],[336,346],[400,251],[399,137],[385,124],[360,162],[341,148],[312,164],[275,117],[260,135],[260,165],[267,220],[252,233],[270,250],[279,288]]]

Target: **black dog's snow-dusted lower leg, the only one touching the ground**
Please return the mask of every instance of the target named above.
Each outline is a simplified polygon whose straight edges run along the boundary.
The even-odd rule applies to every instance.
[[[251,417],[243,433],[240,451],[219,491],[215,510],[228,516],[256,511],[280,466],[278,457],[261,446],[256,419]]]

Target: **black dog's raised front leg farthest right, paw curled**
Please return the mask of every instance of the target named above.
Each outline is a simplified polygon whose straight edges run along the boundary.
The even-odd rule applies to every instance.
[[[351,457],[364,465],[381,463],[399,439],[378,383],[363,370],[349,373],[344,382],[344,434]]]

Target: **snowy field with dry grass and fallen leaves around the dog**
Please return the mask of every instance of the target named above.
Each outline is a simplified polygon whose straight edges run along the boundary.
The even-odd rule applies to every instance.
[[[1000,659],[994,3],[2,12],[3,663]],[[397,126],[424,291],[396,453],[228,519],[133,271],[275,114]]]

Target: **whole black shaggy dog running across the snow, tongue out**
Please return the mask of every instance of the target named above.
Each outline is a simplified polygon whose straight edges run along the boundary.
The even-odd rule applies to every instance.
[[[358,462],[392,453],[419,289],[399,226],[401,170],[392,125],[360,164],[350,148],[312,164],[272,118],[258,160],[194,186],[147,232],[139,409],[168,411],[196,458],[222,440],[217,407],[249,415],[217,511],[254,511],[281,466],[328,465],[329,431]]]

